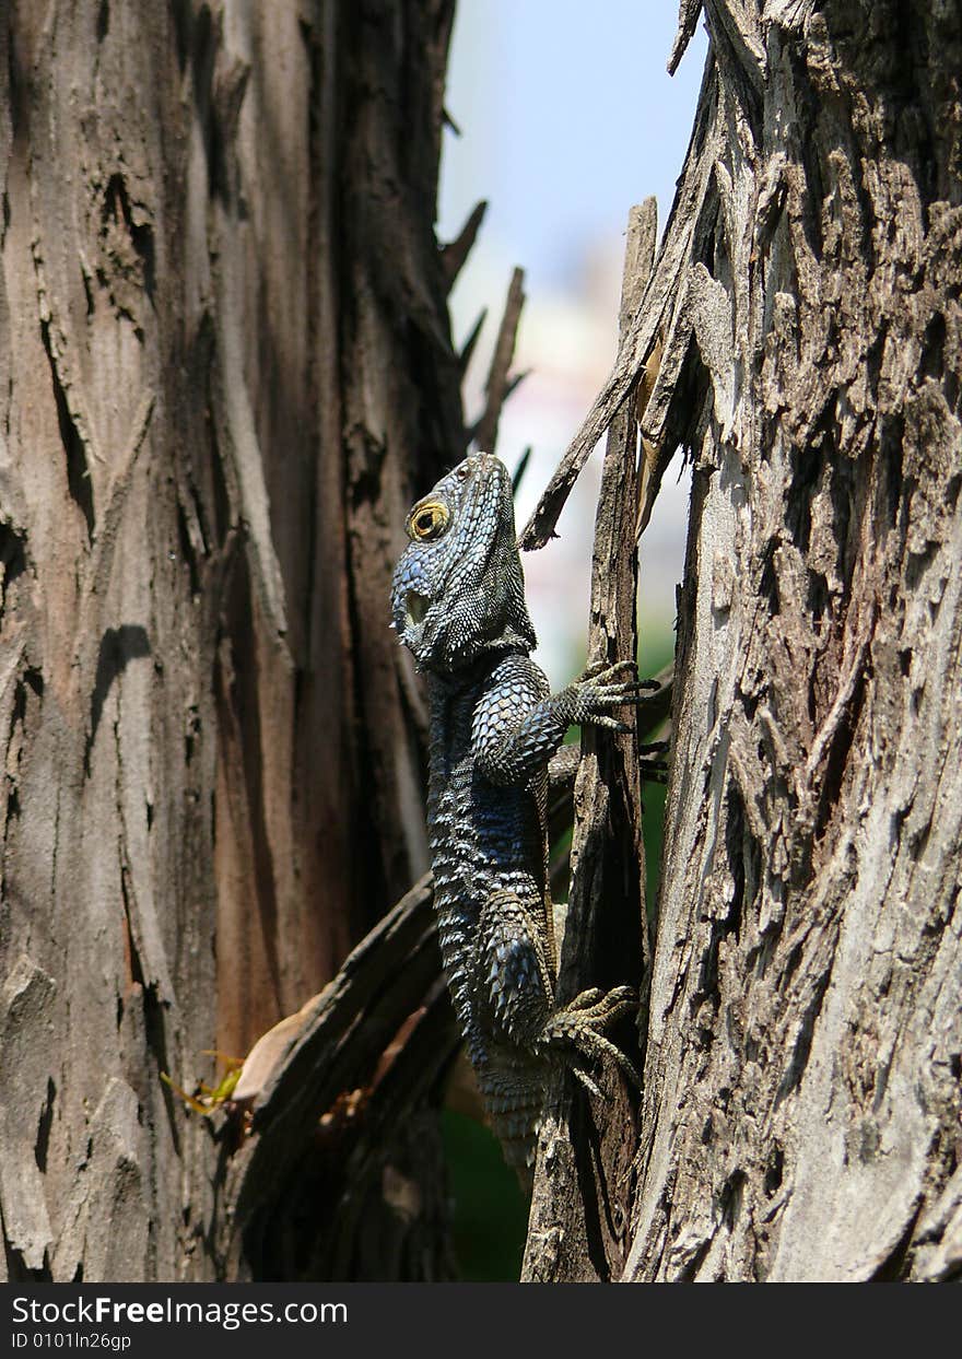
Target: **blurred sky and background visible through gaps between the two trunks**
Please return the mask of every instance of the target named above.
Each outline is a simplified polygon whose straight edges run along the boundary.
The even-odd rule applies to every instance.
[[[519,526],[614,361],[628,209],[655,194],[659,231],[671,209],[707,48],[700,31],[669,77],[675,15],[674,4],[639,0],[458,0],[446,107],[459,136],[444,136],[438,234],[457,236],[478,198],[488,200],[452,295],[458,348],[482,308],[489,313],[466,379],[469,421],[484,405],[511,270],[524,270],[514,370],[527,376],[507,402],[497,442],[511,469],[533,447]],[[596,450],[561,515],[560,538],[523,559],[535,656],[553,689],[584,660],[599,472]],[[677,458],[641,540],[643,674],[673,654],[688,495]],[[649,887],[659,794],[645,792]],[[463,1276],[516,1279],[526,1208],[497,1143],[454,1112],[446,1113],[446,1139]]]

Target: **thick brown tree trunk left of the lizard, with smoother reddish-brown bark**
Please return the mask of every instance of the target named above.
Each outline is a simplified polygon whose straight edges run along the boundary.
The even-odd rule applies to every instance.
[[[386,601],[463,447],[451,16],[20,0],[0,29],[12,1277],[276,1272],[217,1246],[223,1142],[160,1075],[212,1083],[427,866]],[[444,1275],[427,1097],[368,1181],[341,1268]],[[311,1189],[317,1231],[340,1181]]]

